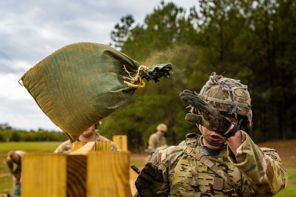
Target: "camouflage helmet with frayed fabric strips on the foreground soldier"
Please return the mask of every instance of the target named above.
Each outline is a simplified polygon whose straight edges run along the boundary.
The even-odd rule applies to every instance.
[[[220,113],[242,118],[246,126],[252,126],[251,98],[248,87],[240,80],[229,79],[212,73],[209,81],[195,94],[215,107]],[[192,108],[191,112],[193,112]],[[238,117],[239,116],[239,117]],[[239,120],[240,121],[240,120]],[[241,124],[241,122],[239,122]]]

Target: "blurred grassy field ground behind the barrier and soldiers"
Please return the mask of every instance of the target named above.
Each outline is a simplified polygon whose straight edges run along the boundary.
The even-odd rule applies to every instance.
[[[9,150],[24,150],[27,153],[52,153],[61,142],[1,142],[0,143],[0,196],[12,193],[12,179],[6,165],[7,152]],[[296,139],[285,141],[272,141],[258,144],[260,147],[269,147],[278,150],[285,170],[289,174],[287,188],[278,193],[277,197],[296,196]],[[145,154],[146,155],[146,154]],[[132,158],[135,158],[134,160]],[[131,157],[131,164],[140,167],[144,157]]]

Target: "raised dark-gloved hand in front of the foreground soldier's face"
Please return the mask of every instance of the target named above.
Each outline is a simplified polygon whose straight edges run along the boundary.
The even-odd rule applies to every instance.
[[[231,121],[216,110],[212,105],[205,103],[189,90],[180,93],[182,100],[198,110],[197,114],[186,114],[186,121],[200,124],[210,131],[223,135],[231,126]]]

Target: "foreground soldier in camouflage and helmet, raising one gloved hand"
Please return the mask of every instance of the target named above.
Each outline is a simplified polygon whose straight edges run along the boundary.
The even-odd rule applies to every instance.
[[[274,196],[287,185],[276,150],[259,148],[242,131],[252,125],[250,94],[238,80],[213,73],[200,94],[184,90],[186,120],[202,136],[152,155],[139,174],[134,196]]]

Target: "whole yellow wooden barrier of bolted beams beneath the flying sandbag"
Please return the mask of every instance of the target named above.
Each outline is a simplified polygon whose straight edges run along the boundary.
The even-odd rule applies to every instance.
[[[68,154],[25,154],[22,197],[129,197],[129,152],[110,141],[74,142]]]

